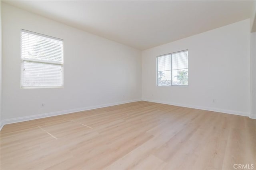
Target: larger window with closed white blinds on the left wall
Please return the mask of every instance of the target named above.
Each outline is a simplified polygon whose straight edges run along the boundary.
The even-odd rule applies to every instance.
[[[21,87],[63,87],[63,40],[21,30]]]

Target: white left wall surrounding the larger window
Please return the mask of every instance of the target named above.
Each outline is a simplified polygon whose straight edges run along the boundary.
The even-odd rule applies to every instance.
[[[64,39],[64,88],[20,88],[21,28]],[[2,32],[2,118],[5,123],[20,121],[22,119],[15,118],[24,116],[38,118],[32,115],[74,112],[141,98],[139,50],[4,3]],[[41,103],[45,104],[44,108],[40,107]],[[66,111],[58,112],[62,110]]]

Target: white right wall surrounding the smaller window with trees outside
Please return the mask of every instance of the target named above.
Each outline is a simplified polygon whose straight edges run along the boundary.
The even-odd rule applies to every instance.
[[[156,86],[156,56],[186,49],[189,86]],[[249,116],[250,19],[142,51],[142,99]]]

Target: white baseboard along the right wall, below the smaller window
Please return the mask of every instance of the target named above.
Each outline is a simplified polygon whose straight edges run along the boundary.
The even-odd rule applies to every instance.
[[[208,107],[204,107],[204,106],[194,106],[194,105],[189,105],[189,104],[164,102],[164,101],[159,101],[159,100],[148,100],[148,99],[142,99],[142,100],[146,101],[146,102],[155,102],[155,103],[169,104],[169,105],[181,106],[181,107],[186,107],[186,108],[194,108],[194,109],[208,110],[208,111],[213,111],[213,112],[235,114],[235,115],[239,115],[239,116],[247,116],[247,117],[250,116],[250,112],[239,112],[239,111],[219,109],[219,108],[208,108]]]

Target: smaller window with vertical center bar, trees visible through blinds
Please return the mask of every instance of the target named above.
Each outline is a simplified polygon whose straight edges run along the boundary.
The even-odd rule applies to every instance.
[[[157,56],[157,86],[188,86],[188,50]]]

